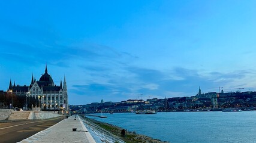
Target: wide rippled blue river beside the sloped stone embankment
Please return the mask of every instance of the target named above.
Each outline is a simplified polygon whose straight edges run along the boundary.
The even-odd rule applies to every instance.
[[[103,114],[110,123],[129,131],[170,142],[255,142],[256,111]]]

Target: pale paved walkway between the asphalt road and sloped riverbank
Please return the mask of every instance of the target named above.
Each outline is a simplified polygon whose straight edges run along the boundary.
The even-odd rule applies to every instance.
[[[76,131],[73,131],[76,128]],[[46,130],[42,130],[37,134],[23,139],[25,142],[88,142],[95,143],[94,138],[83,125],[79,116],[71,116],[64,119],[56,125],[51,126]]]

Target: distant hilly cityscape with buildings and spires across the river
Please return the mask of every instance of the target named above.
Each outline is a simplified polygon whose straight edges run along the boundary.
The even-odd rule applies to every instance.
[[[157,110],[157,111],[218,111],[223,108],[240,108],[242,110],[255,110],[256,92],[208,92],[192,97],[173,97],[164,99],[127,100],[121,102],[92,102],[86,105],[70,105],[71,111],[78,113],[112,113],[132,112],[136,110]]]

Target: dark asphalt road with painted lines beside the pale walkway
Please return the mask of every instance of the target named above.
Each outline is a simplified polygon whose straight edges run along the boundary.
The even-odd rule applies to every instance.
[[[16,122],[0,122],[0,142],[19,142],[41,130],[60,122],[63,117],[45,120],[23,120]]]

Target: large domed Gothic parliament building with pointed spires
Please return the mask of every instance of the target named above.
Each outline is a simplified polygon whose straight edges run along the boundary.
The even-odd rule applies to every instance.
[[[64,76],[64,82],[62,86],[62,80],[59,86],[55,85],[52,76],[48,74],[47,65],[45,73],[40,77],[40,80],[36,81],[32,74],[31,84],[29,86],[10,85],[9,92],[17,96],[34,97],[41,101],[39,107],[44,110],[53,110],[55,108],[64,108],[68,110],[68,90],[66,77]]]

